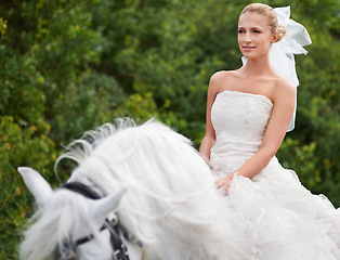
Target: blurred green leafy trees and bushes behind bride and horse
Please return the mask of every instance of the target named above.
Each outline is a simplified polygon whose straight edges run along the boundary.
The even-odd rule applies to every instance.
[[[65,144],[117,117],[155,117],[192,139],[205,132],[210,76],[240,66],[240,0],[0,1],[0,259],[17,259],[32,198],[16,171],[54,186]],[[274,0],[310,31],[296,130],[278,153],[313,193],[340,206],[338,0]]]

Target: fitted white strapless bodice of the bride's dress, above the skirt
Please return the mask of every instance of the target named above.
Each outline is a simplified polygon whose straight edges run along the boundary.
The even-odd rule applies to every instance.
[[[264,95],[225,90],[211,107],[215,145],[210,159],[225,173],[236,170],[260,147],[273,103]]]

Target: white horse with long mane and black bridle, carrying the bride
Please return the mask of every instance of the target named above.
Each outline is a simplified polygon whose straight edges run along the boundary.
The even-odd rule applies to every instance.
[[[78,164],[67,184],[86,185],[101,198],[67,184],[53,191],[37,171],[18,168],[39,206],[22,259],[247,259],[210,168],[186,138],[160,122],[106,123],[73,142],[56,165],[63,158]],[[128,248],[121,258],[109,238],[115,216],[120,246]]]

